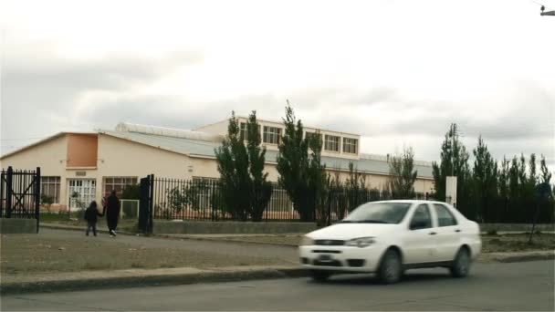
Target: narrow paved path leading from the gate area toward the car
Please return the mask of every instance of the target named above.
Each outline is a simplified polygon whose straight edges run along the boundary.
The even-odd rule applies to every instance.
[[[77,231],[54,230],[41,228],[40,235],[55,239],[67,239],[83,235]],[[211,252],[223,255],[246,255],[246,256],[263,256],[271,258],[279,258],[291,264],[298,264],[298,252],[296,247],[268,245],[268,244],[242,244],[232,242],[217,241],[198,241],[193,239],[168,239],[144,236],[118,235],[115,238],[109,234],[99,234],[95,237],[99,241],[117,241],[124,244],[130,244],[133,247],[145,248],[183,248],[194,252]]]

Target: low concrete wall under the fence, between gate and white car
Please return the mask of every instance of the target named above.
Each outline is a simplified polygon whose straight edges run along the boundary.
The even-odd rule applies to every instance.
[[[204,222],[154,220],[154,234],[297,234],[317,229],[314,223]]]

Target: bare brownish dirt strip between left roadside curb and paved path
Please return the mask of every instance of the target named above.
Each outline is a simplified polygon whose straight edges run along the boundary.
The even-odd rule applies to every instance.
[[[222,267],[233,265],[283,265],[283,260],[227,256],[181,248],[152,248],[125,244],[117,239],[75,235],[58,239],[37,234],[2,235],[0,272],[35,274],[127,268]]]

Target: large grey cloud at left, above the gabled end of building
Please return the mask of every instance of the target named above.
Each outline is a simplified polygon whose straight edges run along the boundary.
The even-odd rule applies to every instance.
[[[10,47],[2,57],[2,138],[91,130],[95,120],[76,119],[90,97],[132,94],[203,61],[197,51],[169,52],[159,58],[109,55],[79,59],[63,57],[48,43]],[[23,131],[22,123],[26,125]]]

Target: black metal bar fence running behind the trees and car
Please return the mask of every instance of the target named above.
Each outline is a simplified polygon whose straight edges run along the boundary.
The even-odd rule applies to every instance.
[[[148,204],[143,207],[144,212],[148,215],[152,214],[155,219],[244,220],[225,207],[224,188],[217,179],[178,180],[155,178],[151,175],[148,182],[149,186],[148,188],[145,186],[145,190],[152,188],[152,191],[143,192],[146,195],[141,198],[141,205],[148,200]],[[353,190],[344,186],[335,186],[328,191],[324,200],[316,204],[312,213],[309,213],[308,221],[332,224],[343,219],[362,203],[391,199],[435,199],[427,192],[400,195],[377,189]],[[470,202],[456,208],[467,218],[484,223],[531,223],[535,220],[538,223],[550,224],[555,219],[555,205],[552,199],[544,202],[496,199],[487,202],[479,209],[478,203]],[[251,220],[250,215],[247,219]],[[278,183],[274,183],[270,200],[262,214],[262,221],[300,220],[301,216],[293,208],[288,193],[280,188]]]

